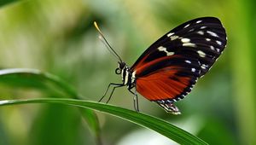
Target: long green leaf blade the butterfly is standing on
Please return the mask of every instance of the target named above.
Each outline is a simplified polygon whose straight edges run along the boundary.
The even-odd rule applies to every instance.
[[[29,99],[29,100],[4,100],[0,101],[0,106],[14,105],[14,104],[27,104],[27,103],[59,103],[66,104],[74,107],[86,107],[101,111],[102,113],[108,113],[110,115],[126,119],[137,125],[147,127],[153,131],[157,131],[160,134],[172,139],[173,141],[180,144],[207,144],[200,138],[191,135],[187,131],[166,122],[162,119],[157,119],[144,113],[137,113],[122,107],[115,107],[108,104],[99,102],[88,102],[74,99]]]

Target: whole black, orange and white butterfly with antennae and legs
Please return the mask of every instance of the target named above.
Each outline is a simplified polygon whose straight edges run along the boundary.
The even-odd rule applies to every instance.
[[[134,95],[137,111],[138,92],[163,107],[167,113],[180,114],[174,102],[189,94],[196,81],[217,61],[227,44],[221,21],[215,17],[201,17],[167,32],[128,67],[108,44],[96,22],[95,26],[107,48],[119,60],[115,73],[122,78],[122,83],[108,84],[108,89],[113,86],[113,90],[107,103],[116,88],[127,86]],[[106,96],[108,89],[99,102]]]

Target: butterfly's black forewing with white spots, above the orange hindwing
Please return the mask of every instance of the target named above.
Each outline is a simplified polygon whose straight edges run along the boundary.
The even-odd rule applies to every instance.
[[[131,69],[143,67],[148,62],[166,55],[183,55],[183,57],[197,59],[200,62],[201,77],[218,59],[226,42],[226,33],[218,18],[202,17],[189,20],[167,32],[146,49]]]

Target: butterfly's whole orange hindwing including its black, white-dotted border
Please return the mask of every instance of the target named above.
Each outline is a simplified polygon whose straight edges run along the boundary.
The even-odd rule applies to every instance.
[[[176,101],[186,96],[195,84],[200,74],[200,64],[177,55],[155,62],[148,70],[154,73],[143,72],[139,73],[142,76],[137,76],[137,91],[150,101]]]

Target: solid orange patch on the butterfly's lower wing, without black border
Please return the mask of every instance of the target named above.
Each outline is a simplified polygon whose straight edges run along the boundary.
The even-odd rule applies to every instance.
[[[191,84],[189,77],[177,76],[177,69],[159,71],[151,75],[137,78],[137,92],[149,101],[175,99],[183,94]]]

